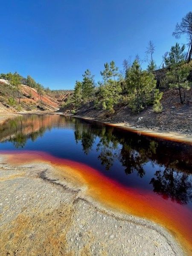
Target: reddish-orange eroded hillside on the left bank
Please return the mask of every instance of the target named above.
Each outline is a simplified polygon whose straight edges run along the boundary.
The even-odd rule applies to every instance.
[[[10,104],[9,99],[15,97],[16,104]],[[8,81],[0,79],[0,112],[4,111],[56,111],[60,102],[47,95],[45,92],[40,96],[35,88],[20,85],[20,105],[18,104],[17,92],[12,92]]]

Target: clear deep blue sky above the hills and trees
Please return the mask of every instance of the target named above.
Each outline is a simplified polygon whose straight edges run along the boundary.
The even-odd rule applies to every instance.
[[[192,11],[191,0],[0,0],[0,6],[0,73],[31,75],[52,89],[72,89],[87,68],[101,80],[111,60],[122,70],[130,55],[145,57],[149,40],[160,64],[178,41],[176,23]]]

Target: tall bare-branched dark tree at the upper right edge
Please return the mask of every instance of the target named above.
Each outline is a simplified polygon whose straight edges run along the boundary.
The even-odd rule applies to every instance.
[[[173,36],[180,38],[181,35],[187,36],[189,49],[186,59],[188,57],[188,61],[190,61],[192,56],[192,12],[188,12],[185,17],[182,18],[181,23],[177,23],[175,26]]]

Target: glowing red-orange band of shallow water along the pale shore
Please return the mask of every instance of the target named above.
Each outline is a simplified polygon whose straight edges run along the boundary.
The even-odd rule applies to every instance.
[[[109,208],[154,221],[168,229],[192,255],[192,211],[184,205],[164,199],[156,193],[144,189],[123,186],[106,177],[98,170],[82,163],[53,157],[38,151],[3,151],[8,154],[9,163],[46,162],[61,172],[67,172],[81,179],[87,187],[87,195]]]

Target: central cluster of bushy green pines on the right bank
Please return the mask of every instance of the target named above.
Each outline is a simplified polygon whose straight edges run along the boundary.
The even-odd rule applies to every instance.
[[[162,111],[160,99],[163,93],[156,88],[156,80],[152,73],[154,61],[149,70],[142,70],[137,60],[127,68],[125,77],[118,72],[115,62],[104,64],[101,71],[102,81],[95,87],[93,76],[89,70],[83,75],[83,81],[76,81],[73,97],[65,103],[80,107],[89,102],[94,103],[96,109],[114,113],[114,106],[128,105],[133,112],[139,112],[148,105],[154,105],[154,111]]]

